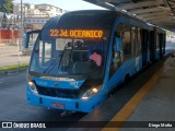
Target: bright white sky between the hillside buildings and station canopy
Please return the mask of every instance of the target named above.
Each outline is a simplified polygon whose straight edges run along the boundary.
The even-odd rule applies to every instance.
[[[83,0],[22,0],[23,3],[48,3],[61,8],[67,11],[74,11],[74,10],[88,10],[88,9],[102,9],[97,5],[91,4]],[[14,2],[21,2],[21,0],[14,0]]]

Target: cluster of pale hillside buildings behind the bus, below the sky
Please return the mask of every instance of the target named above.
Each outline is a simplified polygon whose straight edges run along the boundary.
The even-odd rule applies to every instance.
[[[51,4],[23,3],[23,19],[26,28],[40,28],[50,17],[61,15],[66,11]],[[14,3],[13,13],[21,16],[21,4]]]

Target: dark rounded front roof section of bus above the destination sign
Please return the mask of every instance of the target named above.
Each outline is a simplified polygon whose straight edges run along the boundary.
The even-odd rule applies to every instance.
[[[48,28],[110,28],[117,14],[114,11],[89,10],[73,11],[51,19],[45,26]]]

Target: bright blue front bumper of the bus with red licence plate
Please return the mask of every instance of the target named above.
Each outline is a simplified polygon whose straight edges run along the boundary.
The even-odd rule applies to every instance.
[[[82,112],[91,112],[104,99],[104,97],[102,98],[100,95],[94,95],[86,100],[80,98],[51,97],[35,94],[30,87],[26,87],[26,96],[30,105]]]

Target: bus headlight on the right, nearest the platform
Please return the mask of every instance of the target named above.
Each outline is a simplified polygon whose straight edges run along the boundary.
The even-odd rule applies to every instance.
[[[91,96],[93,96],[94,94],[96,94],[98,92],[97,88],[93,87],[93,88],[90,88],[83,95],[82,95],[82,99],[83,100],[86,100],[89,99]]]

